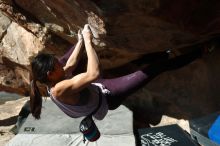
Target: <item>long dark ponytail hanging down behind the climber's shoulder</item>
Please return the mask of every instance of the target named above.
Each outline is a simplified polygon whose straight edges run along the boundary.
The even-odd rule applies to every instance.
[[[42,96],[40,94],[39,88],[37,87],[35,79],[31,81],[30,106],[31,113],[35,117],[35,119],[40,119],[42,108]]]

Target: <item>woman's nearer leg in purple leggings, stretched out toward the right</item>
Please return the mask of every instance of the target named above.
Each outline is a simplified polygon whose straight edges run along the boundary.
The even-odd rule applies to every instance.
[[[160,73],[183,67],[200,57],[202,52],[203,49],[196,48],[187,54],[150,64],[134,73],[113,79],[99,79],[96,82],[102,83],[110,91],[107,96],[109,109],[116,109],[126,97],[146,85]]]

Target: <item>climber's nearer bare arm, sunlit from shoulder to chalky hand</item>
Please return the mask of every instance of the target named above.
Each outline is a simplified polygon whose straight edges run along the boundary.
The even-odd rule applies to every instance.
[[[92,46],[92,34],[88,25],[84,26],[82,34],[88,57],[87,70],[71,79],[57,83],[54,87],[53,95],[58,98],[67,98],[70,94],[77,94],[80,90],[96,80],[100,75],[100,63],[95,49]]]

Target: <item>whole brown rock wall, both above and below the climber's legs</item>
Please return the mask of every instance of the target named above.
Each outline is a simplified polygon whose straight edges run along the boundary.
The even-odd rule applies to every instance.
[[[92,26],[106,77],[136,69],[129,62],[142,54],[213,38],[208,47],[216,46],[219,8],[219,0],[0,0],[0,90],[28,95],[33,56],[63,55],[85,23]],[[217,111],[219,57],[216,46],[213,54],[161,74],[129,97],[134,127],[184,123]]]

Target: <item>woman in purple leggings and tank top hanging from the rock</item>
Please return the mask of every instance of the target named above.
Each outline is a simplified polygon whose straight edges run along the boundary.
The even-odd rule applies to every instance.
[[[33,59],[30,105],[31,113],[36,119],[40,118],[42,107],[37,81],[47,85],[51,100],[68,116],[77,118],[92,113],[96,119],[102,120],[108,110],[116,109],[126,97],[146,85],[152,78],[164,71],[189,64],[204,52],[204,49],[197,45],[188,53],[176,57],[170,57],[170,50],[152,53],[148,57],[154,56],[157,61],[147,67],[125,76],[103,79],[100,78],[100,62],[92,44],[92,37],[89,25],[85,25],[82,33],[78,34],[76,47],[61,59],[42,53]],[[72,76],[83,45],[88,58],[86,71]],[[144,56],[136,62],[143,63],[149,58]]]

